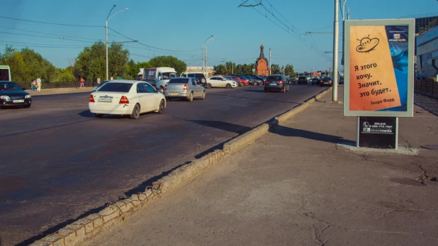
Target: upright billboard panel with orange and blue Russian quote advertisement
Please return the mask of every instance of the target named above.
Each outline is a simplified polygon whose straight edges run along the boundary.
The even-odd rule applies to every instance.
[[[414,25],[345,21],[344,116],[413,116]]]

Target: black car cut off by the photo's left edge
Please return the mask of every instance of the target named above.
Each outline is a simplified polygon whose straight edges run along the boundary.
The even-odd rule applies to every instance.
[[[32,106],[32,96],[21,88],[16,82],[0,82],[0,108],[23,106],[30,108]]]

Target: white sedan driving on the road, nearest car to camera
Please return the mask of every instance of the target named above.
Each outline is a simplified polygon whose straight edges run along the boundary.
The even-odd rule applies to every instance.
[[[90,95],[89,108],[97,118],[113,114],[137,119],[140,113],[164,113],[166,99],[147,82],[114,80],[103,84],[99,91]]]

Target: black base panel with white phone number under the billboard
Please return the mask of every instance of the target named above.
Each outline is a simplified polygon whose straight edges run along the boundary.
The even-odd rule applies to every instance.
[[[395,149],[395,117],[359,117],[359,147]]]

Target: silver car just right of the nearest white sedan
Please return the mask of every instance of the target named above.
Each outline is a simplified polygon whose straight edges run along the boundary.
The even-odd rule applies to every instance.
[[[195,78],[173,78],[164,86],[164,96],[169,101],[172,98],[187,99],[193,98],[206,99],[206,89]]]

